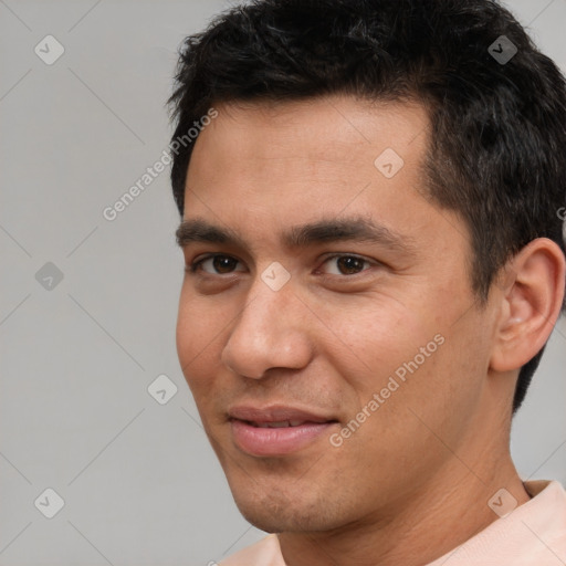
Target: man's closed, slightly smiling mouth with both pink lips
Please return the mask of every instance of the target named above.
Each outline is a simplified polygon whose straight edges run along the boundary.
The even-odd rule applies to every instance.
[[[237,407],[229,411],[232,440],[243,452],[254,457],[281,457],[297,452],[329,434],[338,423],[332,417],[311,410],[271,406]]]

